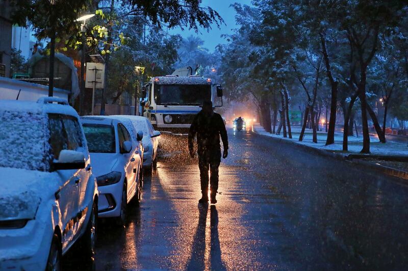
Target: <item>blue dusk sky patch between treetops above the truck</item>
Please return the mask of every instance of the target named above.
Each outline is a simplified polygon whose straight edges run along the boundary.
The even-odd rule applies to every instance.
[[[225,39],[221,38],[222,34],[231,34],[232,29],[237,28],[235,24],[235,10],[230,7],[231,4],[241,3],[245,5],[250,5],[251,0],[203,0],[203,7],[210,6],[216,10],[221,17],[224,19],[225,24],[220,26],[220,29],[217,28],[217,25],[213,25],[212,29],[207,32],[206,30],[200,29],[200,33],[195,33],[194,30],[185,29],[182,31],[179,29],[170,30],[171,34],[180,34],[183,38],[187,38],[190,35],[199,36],[204,40],[204,47],[208,48],[210,51],[213,51],[215,46],[219,43],[226,43]]]

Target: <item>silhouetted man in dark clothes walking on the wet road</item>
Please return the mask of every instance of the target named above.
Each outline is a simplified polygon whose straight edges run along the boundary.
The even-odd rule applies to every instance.
[[[202,110],[195,116],[188,133],[188,148],[194,158],[194,137],[197,134],[198,168],[200,169],[201,194],[199,203],[208,202],[208,171],[210,170],[211,203],[217,203],[218,167],[221,162],[220,136],[224,152],[228,156],[228,137],[221,115],[213,111],[213,103],[205,101]]]

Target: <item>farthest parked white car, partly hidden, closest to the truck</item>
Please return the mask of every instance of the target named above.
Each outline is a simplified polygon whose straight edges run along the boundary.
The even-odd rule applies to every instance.
[[[152,170],[156,170],[157,166],[157,151],[161,133],[153,128],[146,117],[132,115],[118,115],[115,117],[130,119],[136,130],[143,131],[143,167],[146,173],[151,174]]]

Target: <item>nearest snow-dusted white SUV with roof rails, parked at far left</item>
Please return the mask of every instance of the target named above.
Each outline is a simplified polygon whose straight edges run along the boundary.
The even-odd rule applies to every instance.
[[[95,253],[98,192],[84,131],[63,99],[0,100],[0,269],[61,269]]]

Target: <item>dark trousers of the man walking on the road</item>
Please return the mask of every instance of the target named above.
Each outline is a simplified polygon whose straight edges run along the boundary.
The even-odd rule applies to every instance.
[[[218,167],[221,162],[221,150],[205,150],[198,152],[198,168],[200,169],[201,193],[208,195],[208,171],[210,170],[210,191],[216,195],[218,191]]]

